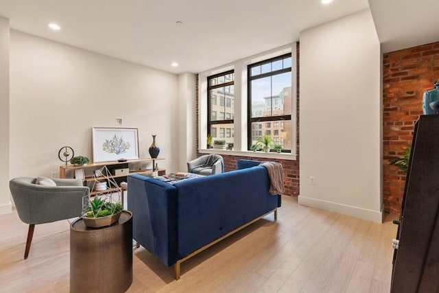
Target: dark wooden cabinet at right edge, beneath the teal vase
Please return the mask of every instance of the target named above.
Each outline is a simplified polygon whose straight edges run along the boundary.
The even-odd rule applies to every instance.
[[[416,122],[394,251],[392,293],[439,292],[439,115]]]

